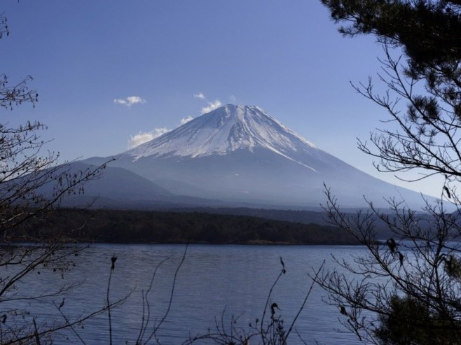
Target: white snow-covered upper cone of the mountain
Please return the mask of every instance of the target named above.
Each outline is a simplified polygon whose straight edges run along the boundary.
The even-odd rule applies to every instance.
[[[147,156],[227,155],[236,150],[265,148],[285,157],[299,150],[317,150],[309,141],[259,108],[226,104],[195,118],[126,154]]]

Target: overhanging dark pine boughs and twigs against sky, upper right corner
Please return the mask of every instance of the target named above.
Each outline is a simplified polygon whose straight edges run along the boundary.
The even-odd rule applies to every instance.
[[[333,20],[347,23],[340,27],[341,33],[372,34],[385,51],[378,78],[388,91],[374,92],[371,78],[355,88],[385,108],[401,130],[381,129],[371,135],[371,145],[359,142],[359,148],[380,160],[376,164],[380,171],[418,169],[423,177],[441,174],[448,183],[446,194],[455,197],[450,182],[461,176],[457,145],[461,125],[461,1],[322,3]]]

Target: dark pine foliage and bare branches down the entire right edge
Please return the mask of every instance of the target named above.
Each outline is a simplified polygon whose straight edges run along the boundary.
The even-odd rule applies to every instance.
[[[373,344],[459,344],[461,339],[461,1],[321,0],[346,36],[370,34],[382,43],[376,93],[373,80],[353,85],[387,111],[396,127],[379,129],[359,148],[376,157],[379,171],[415,181],[441,176],[441,199],[418,218],[404,201],[389,201],[393,215],[370,203],[368,213],[340,210],[331,190],[326,208],[333,224],[368,248],[354,264],[338,263],[357,279],[324,271],[344,325]],[[414,170],[420,178],[405,178]],[[447,210],[446,204],[457,211]],[[392,237],[379,241],[376,218]]]

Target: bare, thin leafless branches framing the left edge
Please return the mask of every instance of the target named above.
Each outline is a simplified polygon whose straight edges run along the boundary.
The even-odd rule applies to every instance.
[[[0,38],[8,34],[6,17],[1,14]],[[8,76],[0,74],[0,109],[13,110],[25,103],[35,106],[38,94],[36,90],[29,89],[31,81],[32,77],[27,76],[11,85]],[[56,305],[55,320],[41,322],[34,315],[41,309],[34,309],[34,305],[53,298],[64,302],[62,295],[72,288],[65,283],[64,274],[71,258],[83,247],[67,243],[64,236],[45,238],[39,233],[34,236],[25,234],[22,226],[29,220],[39,219],[43,213],[53,211],[63,197],[82,193],[83,183],[97,178],[105,167],[103,164],[85,171],[74,171],[69,164],[58,164],[59,154],[44,153],[46,141],[39,134],[44,129],[46,126],[38,121],[18,127],[0,123],[1,344],[43,344],[53,332],[71,328],[99,312],[70,320],[63,314],[65,307],[62,303],[60,307]],[[27,288],[27,281],[49,279],[49,275],[41,278],[45,276],[43,272],[50,272],[55,277],[55,290]],[[11,301],[16,304],[9,304]],[[22,302],[27,302],[32,312],[26,307],[18,307],[18,303],[26,305]]]

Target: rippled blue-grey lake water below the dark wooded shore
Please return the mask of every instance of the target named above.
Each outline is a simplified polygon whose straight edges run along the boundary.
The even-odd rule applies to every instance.
[[[135,344],[142,324],[142,296],[149,288],[154,270],[162,260],[170,258],[158,267],[149,292],[151,325],[158,323],[167,310],[174,272],[184,248],[184,245],[94,244],[72,258],[74,265],[64,274],[64,279],[60,274],[43,272],[34,275],[33,281],[25,281],[21,288],[45,291],[60,283],[81,283],[66,295],[61,310],[69,319],[95,311],[106,301],[111,257],[115,255],[118,259],[111,277],[110,300],[115,302],[130,296],[121,307],[111,311],[113,340],[114,344]],[[282,314],[288,328],[310,287],[307,274],[318,269],[323,260],[326,260],[326,267],[333,267],[331,254],[349,258],[364,251],[361,246],[188,246],[177,276],[170,314],[156,336],[161,344],[181,344],[188,337],[204,334],[208,328],[215,330],[216,323],[220,324],[221,320],[230,330],[232,316],[239,317],[239,328],[248,329],[249,323],[261,319],[270,287],[282,268],[280,257],[287,273],[275,286],[270,301],[277,303],[280,308],[277,312]],[[338,307],[322,301],[325,297],[324,290],[314,286],[296,322],[296,331],[308,344],[315,344],[315,341],[356,344],[354,335],[338,332],[338,329],[345,330],[338,321],[342,315]],[[51,297],[39,307],[37,304],[23,305],[36,316],[38,323],[49,323],[51,316],[59,316],[57,309],[49,305],[52,301],[60,304],[62,297]],[[107,313],[86,321],[83,326],[76,330],[86,344],[109,343]],[[144,339],[148,334],[149,330]],[[295,332],[289,339],[290,344],[301,344]],[[71,332],[62,332],[53,341],[55,344],[78,343]]]

